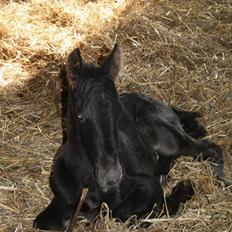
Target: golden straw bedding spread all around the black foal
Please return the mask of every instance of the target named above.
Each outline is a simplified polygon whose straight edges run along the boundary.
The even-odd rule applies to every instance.
[[[60,67],[81,47],[96,62],[124,50],[117,86],[202,112],[232,176],[232,3],[221,0],[0,1],[0,231],[32,231],[52,194],[48,176],[61,143]],[[181,159],[168,187],[194,182],[195,197],[148,231],[231,231],[232,195],[207,163]],[[139,231],[110,218],[75,231]]]

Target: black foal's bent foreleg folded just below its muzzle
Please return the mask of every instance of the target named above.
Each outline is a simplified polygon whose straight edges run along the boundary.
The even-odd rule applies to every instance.
[[[111,201],[112,202],[112,201]],[[110,205],[113,217],[126,221],[131,216],[143,217],[151,212],[154,205],[159,213],[163,206],[163,189],[159,180],[148,175],[137,175],[127,178],[119,186],[119,196],[117,205]]]

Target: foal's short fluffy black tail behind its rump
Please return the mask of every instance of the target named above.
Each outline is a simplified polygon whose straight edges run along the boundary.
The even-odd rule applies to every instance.
[[[189,112],[172,108],[178,116],[183,129],[193,138],[201,139],[207,135],[207,131],[197,118],[201,117],[199,112]]]

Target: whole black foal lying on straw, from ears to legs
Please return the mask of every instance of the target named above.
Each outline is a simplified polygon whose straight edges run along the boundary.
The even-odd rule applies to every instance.
[[[215,174],[223,177],[221,149],[196,140],[205,135],[197,113],[173,109],[142,94],[118,96],[113,82],[118,59],[118,46],[100,68],[85,66],[79,50],[68,58],[67,139],[50,177],[54,198],[35,220],[40,229],[64,230],[84,187],[89,193],[81,216],[88,219],[97,215],[102,202],[121,220],[144,217],[151,210],[160,213],[160,177],[180,155],[210,158],[217,164]],[[190,182],[180,182],[166,197],[169,213],[176,213],[193,193]]]

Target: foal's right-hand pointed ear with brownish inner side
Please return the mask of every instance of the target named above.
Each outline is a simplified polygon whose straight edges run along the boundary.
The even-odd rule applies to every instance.
[[[116,43],[111,54],[105,60],[102,65],[103,72],[112,80],[115,81],[119,71],[121,63],[121,49]]]

